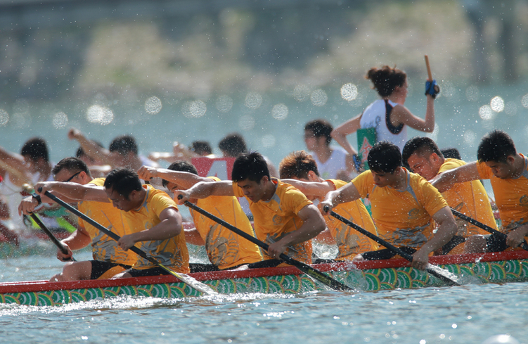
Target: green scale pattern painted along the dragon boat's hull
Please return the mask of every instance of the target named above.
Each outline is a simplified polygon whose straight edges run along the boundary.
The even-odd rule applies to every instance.
[[[461,281],[472,283],[528,281],[528,260],[504,260],[467,264],[442,265],[459,276]],[[380,269],[354,269],[330,274],[358,291],[381,291],[396,288],[423,288],[442,286],[442,282],[426,272],[410,267]],[[258,276],[204,281],[219,293],[303,293],[324,290],[307,275]],[[0,302],[19,305],[64,305],[72,302],[101,300],[117,295],[146,296],[153,298],[197,297],[201,293],[182,282],[146,284],[140,286],[112,286],[73,290],[22,292],[0,294]]]

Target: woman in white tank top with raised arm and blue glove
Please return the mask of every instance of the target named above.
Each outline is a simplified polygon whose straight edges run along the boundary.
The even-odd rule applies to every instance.
[[[404,106],[407,97],[407,75],[404,71],[384,65],[382,68],[373,67],[368,70],[365,78],[371,79],[373,88],[378,91],[381,99],[367,106],[361,115],[333,130],[331,136],[345,151],[351,155],[357,154],[347,140],[347,135],[357,132],[358,129],[375,128],[375,141],[390,141],[397,145],[400,151],[407,141],[407,126],[421,132],[433,131],[434,98],[439,93],[434,80],[427,80],[425,84],[427,110],[425,120],[422,120]],[[359,146],[361,150],[361,144]],[[364,158],[366,159],[366,156]]]

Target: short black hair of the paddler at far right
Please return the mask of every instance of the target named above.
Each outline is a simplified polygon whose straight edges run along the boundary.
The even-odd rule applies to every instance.
[[[487,161],[506,163],[508,156],[515,155],[517,150],[513,139],[502,130],[494,130],[484,135],[477,149],[477,159],[483,163]]]

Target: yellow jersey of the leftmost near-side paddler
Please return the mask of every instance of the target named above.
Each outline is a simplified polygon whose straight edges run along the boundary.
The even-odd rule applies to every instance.
[[[133,233],[150,229],[159,224],[161,222],[160,214],[163,210],[167,208],[178,210],[174,200],[164,191],[154,189],[150,185],[143,185],[143,188],[146,189],[146,196],[141,206],[128,212],[122,211],[122,215],[127,219]],[[184,274],[189,272],[189,253],[183,229],[181,229],[180,234],[172,238],[142,241],[140,249],[165,267]],[[134,265],[134,269],[150,269],[152,267],[155,265],[143,257],[138,257]]]

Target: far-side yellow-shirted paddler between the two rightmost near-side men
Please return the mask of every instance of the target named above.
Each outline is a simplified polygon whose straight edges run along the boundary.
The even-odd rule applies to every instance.
[[[420,174],[427,180],[437,177],[439,173],[444,171],[465,165],[462,160],[444,158],[437,144],[429,137],[414,137],[407,141],[401,158],[404,164],[411,168],[412,172]],[[497,229],[488,194],[479,180],[455,184],[453,188],[442,192],[442,196],[444,196],[449,207]],[[456,223],[458,233],[442,248],[442,252],[439,254],[457,255],[473,252],[474,250],[469,245],[465,248],[465,239],[477,234],[487,234],[484,229],[469,224],[463,219],[456,219]]]

